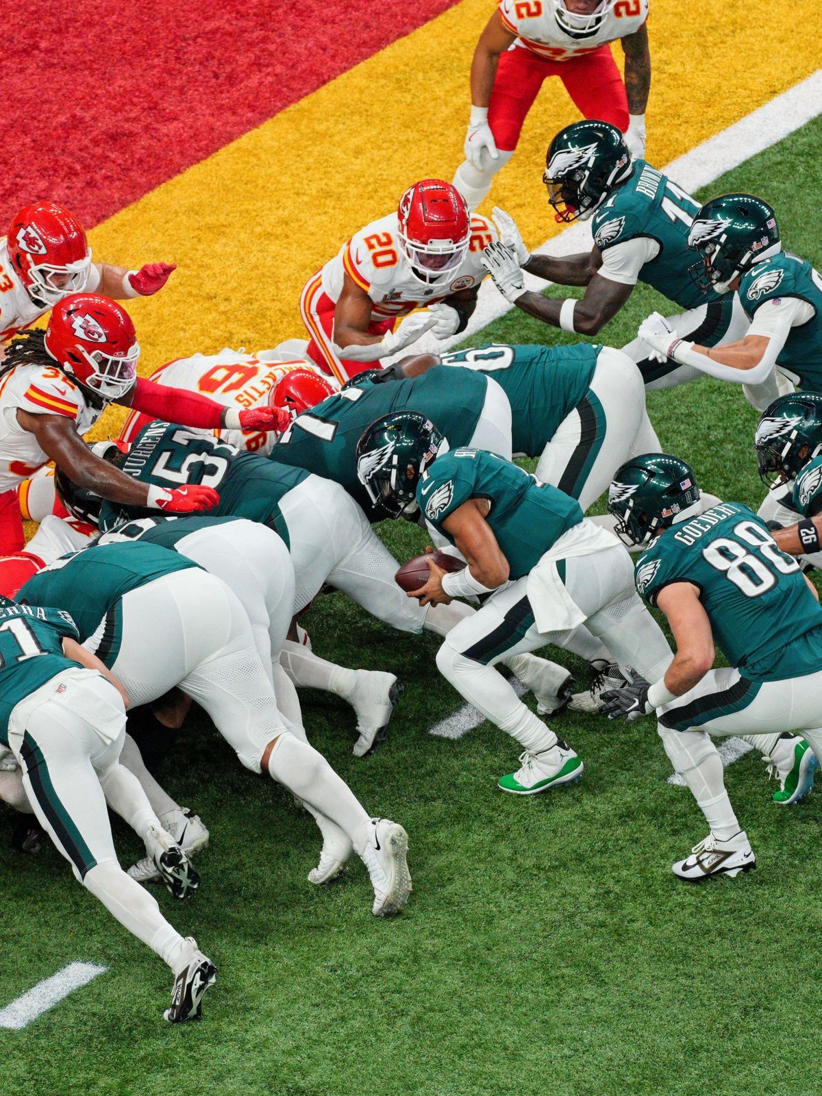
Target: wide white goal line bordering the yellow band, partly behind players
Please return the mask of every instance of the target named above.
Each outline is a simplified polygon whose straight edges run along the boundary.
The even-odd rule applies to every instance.
[[[772,99],[769,103],[760,106],[745,115],[732,126],[704,140],[689,152],[672,160],[662,171],[684,190],[693,192],[700,186],[707,186],[727,171],[738,168],[745,160],[764,152],[766,148],[776,145],[795,129],[822,114],[822,69],[818,69],[801,83],[795,84],[788,91]],[[546,216],[550,206],[546,198]],[[590,222],[576,221],[559,236],[548,240],[535,250],[540,255],[570,255],[578,251],[590,251],[592,246]],[[545,289],[549,282],[525,275],[528,289]],[[468,327],[458,335],[437,342],[431,334],[413,343],[413,351],[407,349],[387,362],[408,356],[409,353],[437,352],[464,342],[476,334],[493,320],[511,311],[510,305],[502,294],[494,288],[491,278],[482,283],[477,299],[477,308],[468,321]]]

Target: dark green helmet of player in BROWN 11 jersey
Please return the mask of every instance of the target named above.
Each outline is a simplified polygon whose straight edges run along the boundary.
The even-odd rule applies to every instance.
[[[587,220],[633,171],[625,137],[609,122],[573,122],[548,146],[543,182],[558,221]]]

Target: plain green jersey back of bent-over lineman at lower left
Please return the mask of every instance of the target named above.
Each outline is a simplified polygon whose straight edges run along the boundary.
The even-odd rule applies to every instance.
[[[197,564],[175,551],[157,545],[93,544],[80,551],[61,556],[33,575],[20,590],[18,600],[26,605],[59,605],[70,613],[80,633],[80,642],[105,620],[96,657],[107,666],[119,651],[123,631],[121,600],[155,579]],[[159,625],[158,625],[159,627]]]

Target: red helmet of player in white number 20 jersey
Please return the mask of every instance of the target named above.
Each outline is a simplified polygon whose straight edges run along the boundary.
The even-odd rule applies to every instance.
[[[433,282],[455,271],[471,239],[471,217],[465,198],[442,179],[423,179],[410,186],[397,209],[400,241],[413,272]]]

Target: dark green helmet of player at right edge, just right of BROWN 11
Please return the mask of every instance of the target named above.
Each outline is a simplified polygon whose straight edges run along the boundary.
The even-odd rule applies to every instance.
[[[694,218],[688,247],[700,261],[688,267],[703,293],[728,293],[731,282],[781,251],[776,214],[752,194],[722,194]]]

